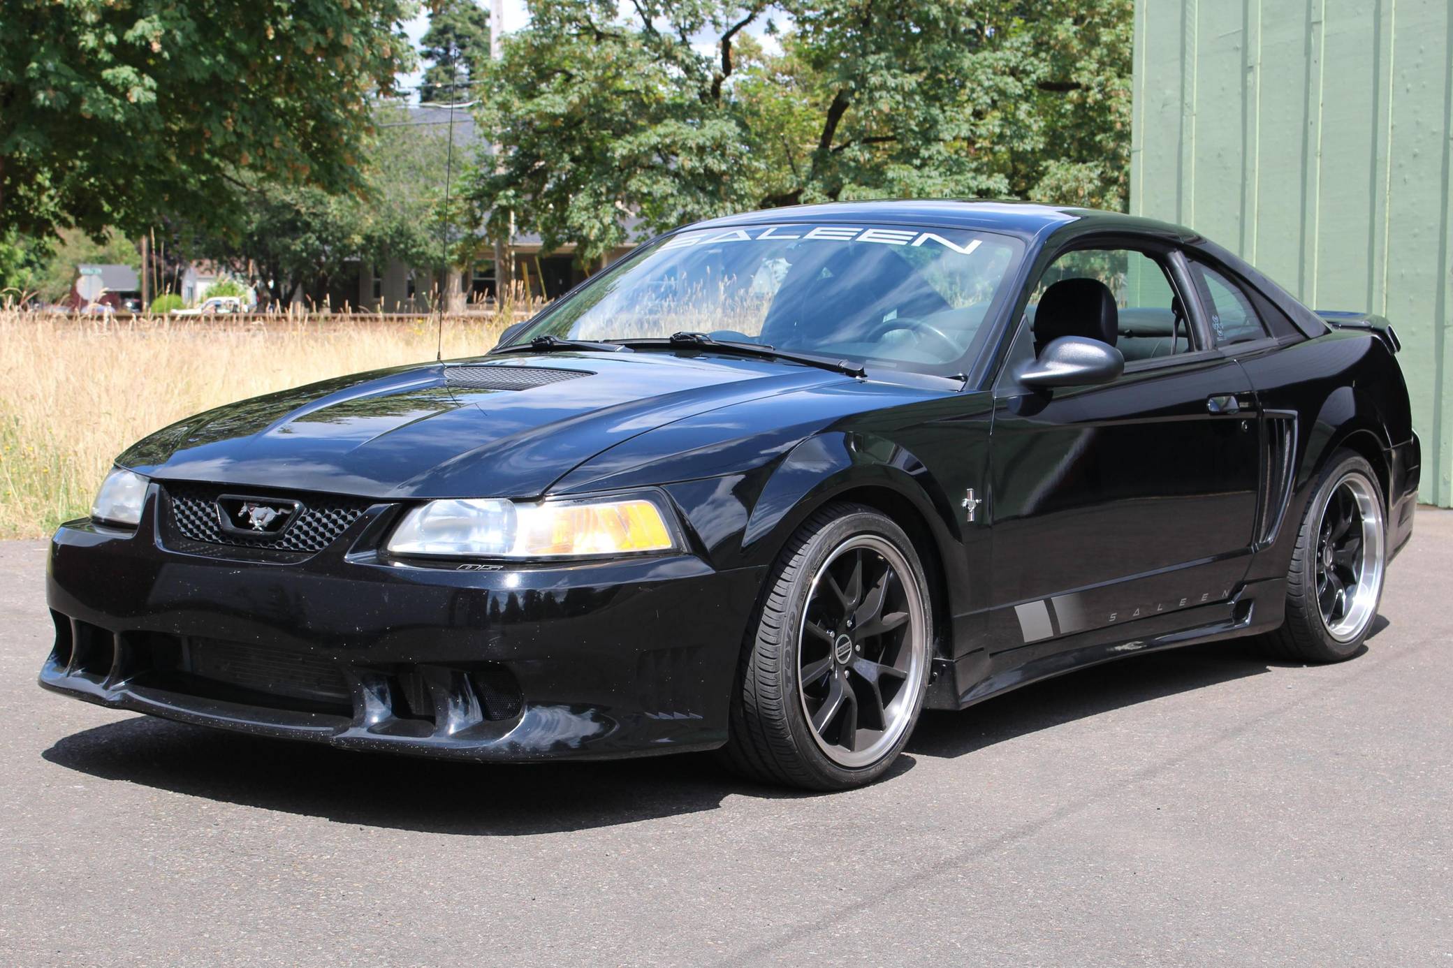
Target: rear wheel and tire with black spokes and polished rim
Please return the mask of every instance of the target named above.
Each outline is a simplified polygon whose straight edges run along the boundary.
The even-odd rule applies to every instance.
[[[1271,657],[1340,663],[1357,654],[1382,600],[1388,568],[1385,509],[1372,465],[1351,451],[1337,451],[1302,513],[1286,578],[1286,619],[1261,637]],[[1354,538],[1357,551],[1348,554]]]

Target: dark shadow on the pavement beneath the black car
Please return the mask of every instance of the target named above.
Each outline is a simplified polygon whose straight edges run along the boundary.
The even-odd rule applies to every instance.
[[[1386,626],[1379,618],[1373,634]],[[963,712],[923,717],[882,782],[915,756],[953,757],[1161,696],[1268,669],[1241,642],[1215,642],[1026,686]],[[465,836],[612,827],[715,810],[729,795],[811,796],[738,779],[712,756],[602,763],[475,765],[352,753],[183,725],[153,717],[74,733],[42,754],[108,781],[336,823]]]

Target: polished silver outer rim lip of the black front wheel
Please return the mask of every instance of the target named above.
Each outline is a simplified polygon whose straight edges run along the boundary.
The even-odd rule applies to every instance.
[[[899,586],[904,589],[908,608],[908,629],[904,634],[904,647],[908,650],[908,669],[904,686],[883,709],[885,717],[888,717],[886,728],[867,747],[849,750],[844,746],[825,740],[812,725],[812,711],[808,708],[808,695],[802,682],[802,642],[808,634],[808,609],[817,597],[818,587],[822,583],[822,577],[828,573],[828,567],[844,554],[860,548],[866,548],[882,555],[888,561],[888,565],[899,576]],[[812,740],[818,744],[818,749],[822,750],[824,756],[833,760],[834,765],[846,769],[863,769],[872,766],[882,760],[886,751],[902,738],[904,733],[907,733],[908,725],[912,722],[918,693],[921,692],[920,686],[923,674],[928,664],[927,638],[924,635],[926,621],[927,608],[923,592],[918,587],[915,573],[908,565],[907,557],[885,538],[879,538],[878,535],[853,535],[838,544],[837,548],[834,548],[833,552],[822,561],[822,564],[818,565],[817,573],[812,576],[812,584],[808,587],[806,599],[802,603],[802,616],[798,621],[796,651],[792,658],[793,674],[798,680],[798,705],[802,709],[804,724],[806,725],[808,733],[812,734]]]

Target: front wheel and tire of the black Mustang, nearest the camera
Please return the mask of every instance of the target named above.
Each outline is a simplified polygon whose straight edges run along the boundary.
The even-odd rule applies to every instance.
[[[931,622],[923,564],[898,525],[862,504],[815,512],[782,551],[747,632],[728,766],[814,791],[882,776],[923,709]]]

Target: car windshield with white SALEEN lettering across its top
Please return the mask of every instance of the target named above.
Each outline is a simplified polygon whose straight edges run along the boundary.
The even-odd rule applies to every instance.
[[[1007,235],[902,225],[686,231],[600,273],[511,343],[706,333],[956,374],[987,337],[1020,251]]]

